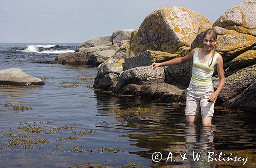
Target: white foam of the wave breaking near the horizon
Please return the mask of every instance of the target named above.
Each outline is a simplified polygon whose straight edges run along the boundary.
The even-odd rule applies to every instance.
[[[67,49],[67,50],[44,50],[44,51],[39,51],[39,47],[42,48],[51,48],[55,47],[56,45],[28,45],[28,47],[24,50],[18,50],[18,51],[23,51],[23,52],[36,52],[36,53],[66,53],[66,52],[75,52],[75,50]]]

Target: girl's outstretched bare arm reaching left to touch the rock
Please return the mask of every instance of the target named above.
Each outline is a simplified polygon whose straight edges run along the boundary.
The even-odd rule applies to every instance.
[[[195,53],[195,49],[191,50],[187,55],[184,57],[175,58],[173,60],[165,61],[162,63],[153,63],[151,65],[152,69],[155,69],[156,67],[166,66],[166,65],[176,65],[176,64],[182,64],[189,60],[193,59],[193,55]]]

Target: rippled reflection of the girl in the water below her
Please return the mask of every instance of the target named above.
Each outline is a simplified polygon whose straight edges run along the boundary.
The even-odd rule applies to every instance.
[[[198,127],[187,123],[185,127],[185,147],[192,167],[210,167],[207,152],[214,151],[214,132],[211,126]],[[196,156],[200,156],[197,160]]]

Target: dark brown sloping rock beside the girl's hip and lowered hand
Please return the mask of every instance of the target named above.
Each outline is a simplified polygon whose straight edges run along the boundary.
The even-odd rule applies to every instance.
[[[225,86],[219,94],[216,103],[224,106],[229,105],[233,101],[233,98],[236,98],[236,96],[248,88],[256,79],[255,72],[256,65],[252,65],[226,77]],[[216,90],[219,83],[218,77],[213,77],[212,82]]]

